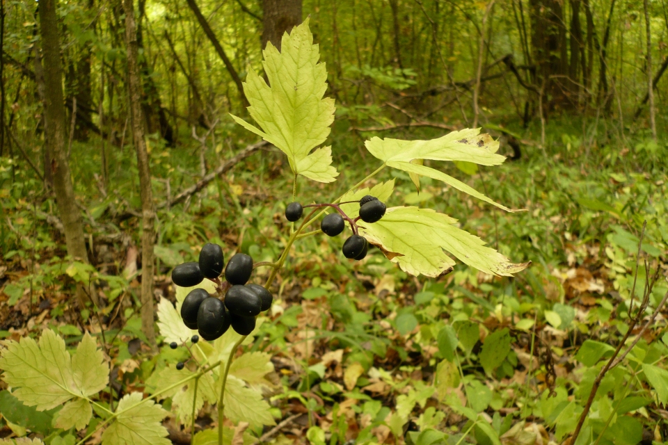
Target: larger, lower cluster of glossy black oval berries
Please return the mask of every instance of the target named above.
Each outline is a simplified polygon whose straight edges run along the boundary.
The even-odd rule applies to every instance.
[[[218,284],[217,296],[209,296],[204,289],[193,289],[181,306],[183,323],[198,330],[200,337],[208,341],[221,337],[230,326],[241,335],[250,334],[255,329],[255,316],[269,309],[273,301],[264,287],[246,284],[253,273],[253,259],[249,255],[237,253],[228,261],[224,283],[219,279],[223,264],[221,246],[208,243],[202,248],[198,262],[180,264],[172,272],[172,281],[177,286],[196,286],[205,277]],[[170,345],[175,346],[176,343]]]

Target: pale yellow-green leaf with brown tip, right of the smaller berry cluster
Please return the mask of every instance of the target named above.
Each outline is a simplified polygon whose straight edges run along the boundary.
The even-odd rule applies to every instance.
[[[411,275],[436,277],[455,262],[445,254],[484,273],[511,276],[529,263],[514,264],[485,246],[477,236],[454,226],[456,220],[431,209],[392,207],[373,224],[358,223],[360,234],[378,245],[385,256]]]

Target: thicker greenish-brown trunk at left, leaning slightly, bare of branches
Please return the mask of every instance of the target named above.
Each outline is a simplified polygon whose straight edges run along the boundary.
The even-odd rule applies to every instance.
[[[77,207],[70,161],[67,159],[65,147],[65,106],[63,105],[63,71],[61,66],[61,46],[58,37],[58,18],[56,17],[56,1],[42,0],[39,6],[40,31],[42,33],[42,56],[44,58],[44,127],[45,149],[52,154],[54,191],[58,213],[63,221],[67,254],[77,261],[88,263],[88,252],[84,241],[84,227],[81,224],[81,213]],[[79,302],[86,302],[84,289],[77,286]],[[90,298],[97,304],[95,291]]]

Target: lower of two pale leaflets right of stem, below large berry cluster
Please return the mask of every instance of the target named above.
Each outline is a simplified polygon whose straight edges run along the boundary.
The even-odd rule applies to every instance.
[[[269,412],[269,403],[264,401],[260,391],[245,387],[244,380],[234,375],[228,375],[224,401],[225,416],[234,423],[248,422],[253,428],[276,423]]]

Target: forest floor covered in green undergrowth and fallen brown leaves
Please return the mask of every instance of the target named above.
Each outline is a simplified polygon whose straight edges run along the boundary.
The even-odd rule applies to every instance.
[[[178,154],[165,153],[154,152],[156,174],[170,177],[174,191],[187,185],[187,175],[178,167]],[[278,257],[289,230],[283,209],[292,200],[292,183],[285,179],[282,157],[274,152],[254,156],[237,165],[227,182],[214,181],[185,206],[159,213],[157,296],[175,301],[171,268],[196,259],[209,241],[223,245],[226,258],[237,249],[255,261]],[[424,279],[402,272],[377,249],[363,261],[344,259],[342,236],[303,239],[271,286],[274,306],[248,346],[271,353],[274,372],[268,380],[273,385],[265,396],[278,428],[250,428],[237,439],[305,443],[308,433],[311,443],[328,444],[496,443],[486,432],[489,426],[504,445],[568,439],[596,373],[610,357],[605,346],[617,346],[628,329],[626,305],[645,220],[636,293],[642,298],[642,283],[651,275],[644,259],[661,275],[649,296],[651,305],[668,291],[668,175],[655,156],[638,145],[590,151],[568,142],[568,149],[566,143],[546,155],[536,149],[499,168],[446,170],[496,202],[527,209],[521,213],[504,213],[425,179],[417,193],[407,175],[379,178],[397,182],[388,207],[443,211],[512,261],[532,261],[532,266],[516,277],[493,277],[459,264],[452,273]],[[341,161],[346,168],[340,168],[335,185],[300,183],[302,202],[333,199],[365,174],[354,161]],[[116,225],[131,238],[113,238],[112,232],[106,232],[109,239],[98,237],[92,248],[95,270],[72,270],[62,259],[63,238],[47,218],[53,200],[44,197],[29,173],[10,185],[8,165],[0,167],[6,219],[0,339],[36,336],[51,327],[69,344],[79,341],[82,332],[100,338],[104,332],[116,397],[141,390],[152,373],[183,359],[162,343],[153,354],[137,341],[144,338],[135,304],[136,271],[141,269],[134,247],[137,219]],[[127,201],[105,196],[94,185],[90,165],[75,165],[75,171],[75,182],[93,184],[79,187],[86,195],[81,202],[89,233],[109,230],[113,207],[138,208],[136,194],[125,194],[131,196]],[[157,197],[168,193],[163,182],[155,181]],[[104,308],[97,315],[80,311],[72,297],[74,280],[87,273],[97,275],[101,284]],[[263,273],[253,280],[262,283]],[[655,321],[658,329],[643,332],[630,354],[635,362],[627,359],[617,368],[623,371],[603,382],[591,411],[598,423],[589,423],[587,443],[597,437],[601,444],[668,441],[662,394],[652,392],[636,373],[639,363],[666,368],[667,318],[664,309]],[[509,337],[509,351],[490,367],[481,355],[486,338],[496,332]],[[456,335],[454,347],[451,334]],[[584,352],[586,341],[591,343]],[[628,382],[628,388],[621,391],[614,379]],[[477,420],[471,421],[466,409]],[[198,430],[212,428],[214,419],[214,409],[205,405]],[[190,443],[189,426],[174,416],[164,424],[174,443]],[[0,437],[12,432],[6,423],[0,427]],[[99,441],[94,436],[90,443]]]

